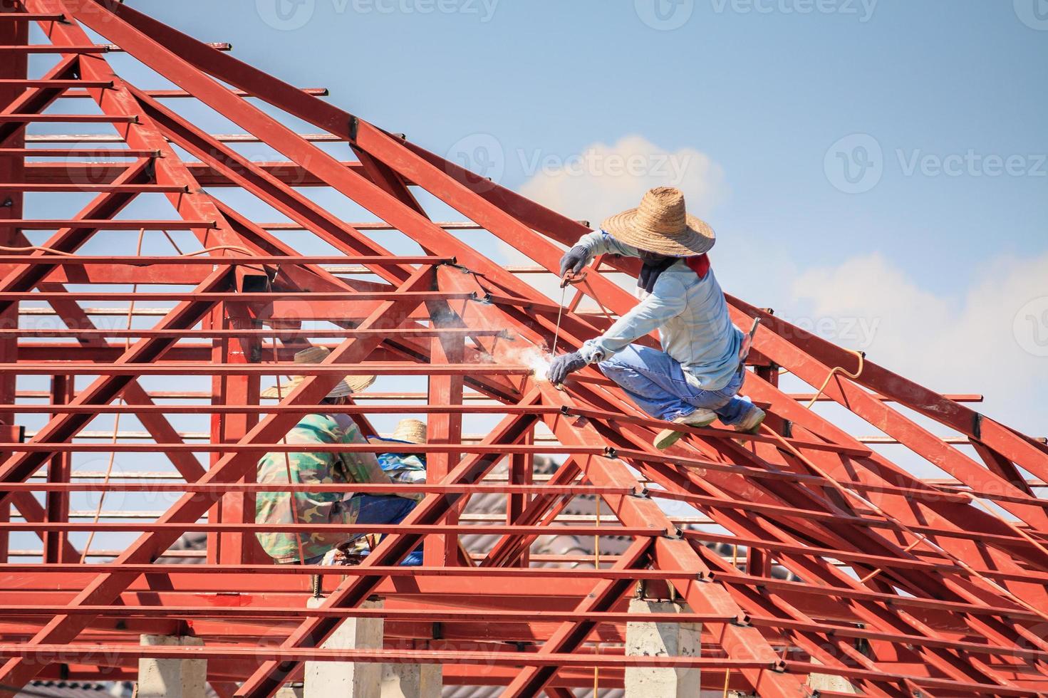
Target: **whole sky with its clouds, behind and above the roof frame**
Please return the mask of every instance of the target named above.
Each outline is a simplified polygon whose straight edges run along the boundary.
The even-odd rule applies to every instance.
[[[594,224],[679,187],[717,232],[727,292],[1048,434],[1048,0],[127,4]],[[139,87],[167,86],[108,60]]]

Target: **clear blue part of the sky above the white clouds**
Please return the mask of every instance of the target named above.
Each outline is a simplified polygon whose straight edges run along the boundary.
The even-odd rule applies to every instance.
[[[507,153],[563,157],[629,134],[694,148],[730,189],[712,222],[725,240],[745,230],[752,253],[784,239],[813,263],[880,252],[958,292],[988,248],[1048,249],[1048,165],[1027,163],[1040,176],[905,176],[896,153],[1048,153],[1048,31],[1011,2],[826,0],[833,12],[800,14],[820,5],[677,1],[692,14],[674,30],[645,24],[629,0],[449,0],[455,12],[430,14],[435,0],[131,4],[232,41],[291,82],[330,87],[341,106],[437,152],[475,133]],[[309,21],[272,28],[275,2],[284,26]],[[864,195],[824,172],[827,150],[852,133],[886,154]],[[503,183],[527,179],[519,165],[507,158]]]

